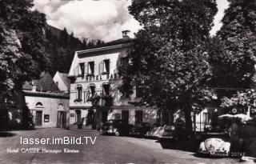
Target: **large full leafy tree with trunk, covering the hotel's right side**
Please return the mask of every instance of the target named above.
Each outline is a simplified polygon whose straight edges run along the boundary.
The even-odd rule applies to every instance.
[[[192,131],[191,112],[208,99],[211,76],[206,42],[217,12],[209,0],[132,1],[130,14],[143,26],[118,68],[122,93],[143,88],[142,103],[162,110],[181,109]]]

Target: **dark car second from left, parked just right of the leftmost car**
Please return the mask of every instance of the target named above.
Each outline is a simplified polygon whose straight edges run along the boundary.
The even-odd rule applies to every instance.
[[[150,130],[150,123],[148,122],[142,122],[136,124],[131,130],[130,135],[132,136],[138,136],[143,137],[145,136],[146,132]]]

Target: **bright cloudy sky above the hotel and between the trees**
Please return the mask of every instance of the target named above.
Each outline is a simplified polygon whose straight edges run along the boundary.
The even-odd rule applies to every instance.
[[[214,35],[227,0],[217,0],[218,13],[214,17],[214,27],[210,31]],[[130,0],[34,0],[34,7],[46,14],[47,23],[59,29],[66,27],[78,38],[102,39],[105,42],[122,38],[122,30],[130,30],[131,37],[141,26],[129,14],[127,6]]]

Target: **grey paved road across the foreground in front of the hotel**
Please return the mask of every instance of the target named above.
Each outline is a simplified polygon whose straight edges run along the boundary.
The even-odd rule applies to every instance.
[[[11,136],[14,134],[14,136]],[[0,135],[0,163],[238,163],[234,158],[198,158],[194,153],[183,150],[163,149],[155,140],[102,136],[94,131],[70,131],[62,129],[41,129],[30,131],[13,131]],[[7,136],[6,135],[10,135]],[[20,138],[63,138],[63,137],[97,137],[88,145],[83,138],[83,145],[64,144],[21,144]],[[22,140],[24,141],[24,140]],[[18,153],[7,153],[7,149],[18,148]],[[26,148],[38,148],[38,152],[26,152]],[[64,149],[78,151],[65,153]],[[45,151],[44,153],[42,151]],[[46,150],[55,153],[46,153]],[[56,153],[62,150],[61,153]],[[25,153],[22,153],[25,151]]]

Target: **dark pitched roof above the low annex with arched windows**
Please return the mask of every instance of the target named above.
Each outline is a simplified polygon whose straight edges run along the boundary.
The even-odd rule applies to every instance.
[[[32,90],[32,86],[36,85],[37,91],[40,92],[59,92],[53,78],[49,73],[42,72],[39,80],[33,80],[32,82],[25,82],[22,86],[23,90]]]

